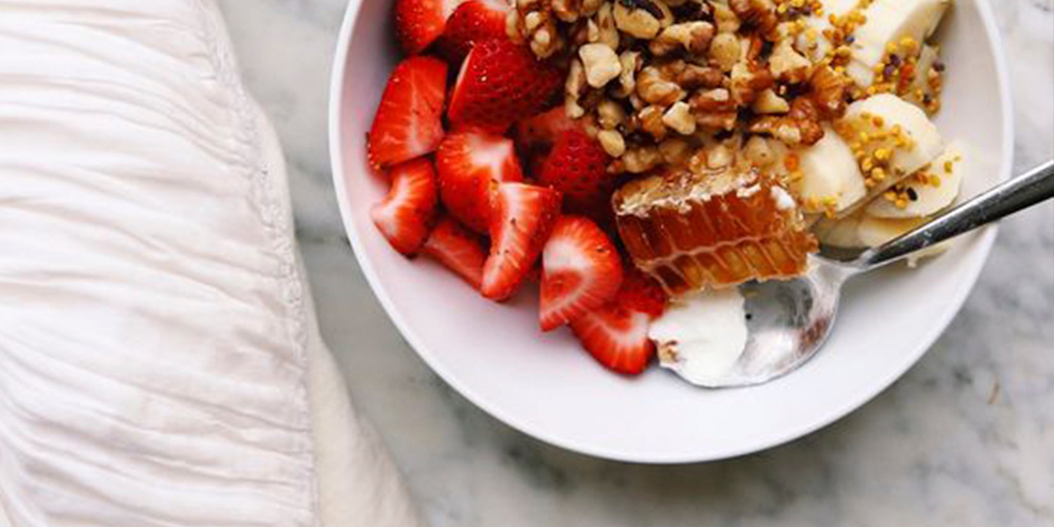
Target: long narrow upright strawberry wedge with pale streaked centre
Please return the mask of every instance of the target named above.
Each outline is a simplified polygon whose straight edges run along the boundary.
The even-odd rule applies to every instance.
[[[490,255],[483,267],[481,292],[504,300],[538,259],[560,216],[560,193],[527,183],[502,183],[494,194]]]

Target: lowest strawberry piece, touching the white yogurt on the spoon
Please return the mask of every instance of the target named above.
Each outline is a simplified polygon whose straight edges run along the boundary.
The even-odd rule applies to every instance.
[[[612,301],[571,323],[571,331],[598,363],[627,375],[641,373],[655,356],[651,317]]]

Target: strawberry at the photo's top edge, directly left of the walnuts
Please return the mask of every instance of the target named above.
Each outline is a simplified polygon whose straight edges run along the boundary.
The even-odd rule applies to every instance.
[[[469,0],[458,5],[440,38],[440,52],[451,63],[456,63],[476,42],[507,39],[505,15],[508,9],[509,5],[499,0]]]

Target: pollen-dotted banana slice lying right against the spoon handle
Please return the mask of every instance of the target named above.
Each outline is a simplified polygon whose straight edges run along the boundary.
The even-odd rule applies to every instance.
[[[957,143],[949,144],[944,153],[933,160],[929,170],[922,170],[897,186],[897,196],[890,196],[893,199],[884,196],[875,198],[866,208],[867,214],[879,218],[918,218],[952,204],[962,184],[962,151]],[[897,207],[897,200],[904,207]]]

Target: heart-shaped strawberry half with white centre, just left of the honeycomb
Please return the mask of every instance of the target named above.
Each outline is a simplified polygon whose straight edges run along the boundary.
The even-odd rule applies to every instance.
[[[542,251],[542,331],[603,306],[621,284],[622,261],[607,234],[588,218],[561,217]]]

